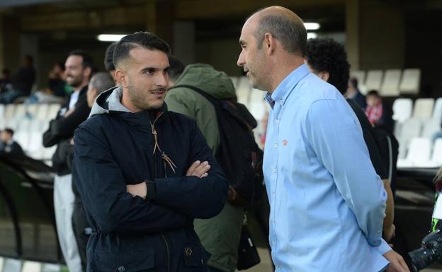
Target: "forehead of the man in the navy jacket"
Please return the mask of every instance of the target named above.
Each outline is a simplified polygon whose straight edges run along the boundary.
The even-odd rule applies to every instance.
[[[130,50],[130,63],[137,66],[149,66],[152,68],[166,68],[169,66],[167,54],[157,49],[135,47]]]

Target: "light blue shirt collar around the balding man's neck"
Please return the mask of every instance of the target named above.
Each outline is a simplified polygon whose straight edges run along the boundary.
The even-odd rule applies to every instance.
[[[283,105],[297,83],[300,82],[302,78],[307,76],[308,73],[310,73],[310,71],[307,64],[302,64],[301,66],[297,67],[297,69],[289,73],[288,76],[286,76],[283,81],[279,83],[278,87],[276,87],[273,93],[266,93],[264,100],[266,100],[272,108],[275,105],[275,101],[279,101],[281,105]]]

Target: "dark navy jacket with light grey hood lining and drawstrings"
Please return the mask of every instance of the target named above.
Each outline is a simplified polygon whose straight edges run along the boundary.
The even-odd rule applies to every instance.
[[[193,218],[222,210],[228,182],[196,122],[167,112],[166,105],[160,112],[113,110],[120,94],[120,88],[102,93],[91,111],[99,114],[74,136],[74,181],[94,230],[88,272],[206,271],[210,254],[193,231]],[[153,153],[151,123],[176,170],[158,148]],[[185,177],[196,160],[209,161],[208,177]],[[144,180],[154,181],[154,199],[126,192],[126,184]]]

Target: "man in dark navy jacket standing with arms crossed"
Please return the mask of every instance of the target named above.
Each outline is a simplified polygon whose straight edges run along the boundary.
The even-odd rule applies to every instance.
[[[169,54],[152,33],[123,37],[118,87],[75,134],[74,180],[93,228],[88,271],[207,271],[193,218],[219,213],[228,183],[196,122],[167,111]]]

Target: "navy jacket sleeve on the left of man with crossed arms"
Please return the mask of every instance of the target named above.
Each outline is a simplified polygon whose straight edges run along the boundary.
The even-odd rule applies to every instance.
[[[126,191],[123,173],[104,138],[84,126],[74,137],[73,180],[97,227],[103,232],[144,234],[185,225],[188,218],[183,213]]]

